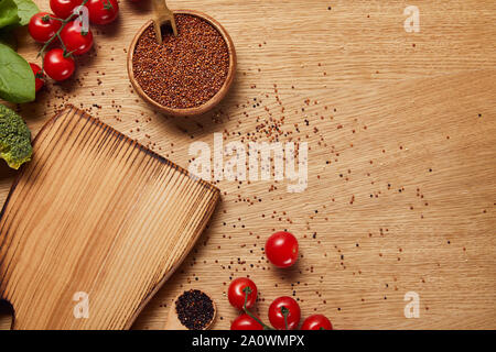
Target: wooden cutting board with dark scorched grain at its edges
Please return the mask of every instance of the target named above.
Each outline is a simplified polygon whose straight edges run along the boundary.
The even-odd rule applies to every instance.
[[[37,134],[0,219],[0,297],[13,306],[13,328],[129,328],[192,249],[218,197],[67,108]]]

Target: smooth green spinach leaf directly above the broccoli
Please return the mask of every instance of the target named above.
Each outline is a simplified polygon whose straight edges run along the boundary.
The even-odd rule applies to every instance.
[[[0,43],[0,98],[28,102],[35,98],[34,74],[30,64],[6,44]]]

